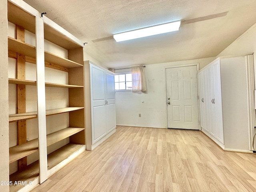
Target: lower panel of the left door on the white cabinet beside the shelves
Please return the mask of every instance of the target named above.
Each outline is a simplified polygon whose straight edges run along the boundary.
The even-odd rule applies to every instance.
[[[106,106],[92,108],[92,144],[106,134]]]

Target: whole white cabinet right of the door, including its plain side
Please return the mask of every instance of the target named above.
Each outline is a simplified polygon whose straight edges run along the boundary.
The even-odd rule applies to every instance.
[[[225,150],[252,150],[253,56],[217,58],[199,71],[202,132]]]

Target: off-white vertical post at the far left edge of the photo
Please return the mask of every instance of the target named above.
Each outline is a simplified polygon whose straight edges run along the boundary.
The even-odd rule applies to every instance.
[[[9,181],[9,106],[8,106],[8,21],[7,1],[0,0],[0,181]],[[0,191],[9,191],[1,186]]]

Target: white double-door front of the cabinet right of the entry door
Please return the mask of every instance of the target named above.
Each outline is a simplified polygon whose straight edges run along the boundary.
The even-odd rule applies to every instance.
[[[199,72],[201,127],[224,144],[220,62]]]

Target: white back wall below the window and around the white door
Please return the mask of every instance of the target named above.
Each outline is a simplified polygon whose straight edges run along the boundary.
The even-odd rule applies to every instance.
[[[215,57],[211,57],[146,65],[147,92],[116,92],[116,124],[166,128],[165,67],[199,63],[201,69],[214,59]]]

